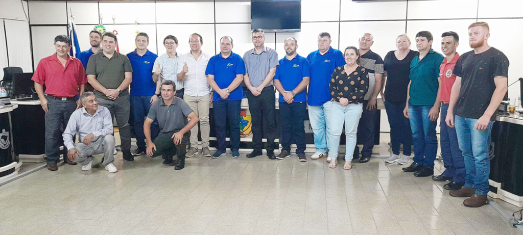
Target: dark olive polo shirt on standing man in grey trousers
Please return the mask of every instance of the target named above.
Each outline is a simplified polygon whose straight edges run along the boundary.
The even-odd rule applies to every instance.
[[[126,72],[132,73],[131,62],[129,62],[129,58],[126,55],[116,51],[111,58],[107,58],[101,51],[92,55],[89,57],[87,69],[85,70],[85,74],[95,75],[98,83],[107,89],[117,89],[122,84],[123,79],[126,78],[124,75]],[[96,97],[109,99],[98,90],[94,92]],[[124,91],[120,96],[126,95],[129,95],[129,92]]]

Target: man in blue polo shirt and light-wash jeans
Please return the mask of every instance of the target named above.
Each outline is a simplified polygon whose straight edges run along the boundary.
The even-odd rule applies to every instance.
[[[331,93],[329,83],[334,68],[345,65],[343,53],[331,47],[331,34],[322,32],[318,36],[318,50],[307,56],[311,67],[309,84],[309,121],[314,133],[316,152],[311,159],[327,156],[328,132],[331,117]],[[330,159],[327,158],[327,162]]]

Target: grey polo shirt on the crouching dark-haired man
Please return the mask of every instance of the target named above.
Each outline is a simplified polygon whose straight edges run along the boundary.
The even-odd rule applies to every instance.
[[[154,102],[147,117],[158,120],[160,132],[170,133],[184,128],[187,125],[187,117],[192,112],[184,100],[175,96],[169,106],[164,103],[163,99]]]

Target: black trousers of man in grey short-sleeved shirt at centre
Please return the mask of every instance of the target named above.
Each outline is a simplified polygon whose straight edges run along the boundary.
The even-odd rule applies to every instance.
[[[261,138],[267,138],[267,151],[274,151],[274,139],[276,138],[276,98],[274,86],[269,86],[261,91],[259,96],[254,96],[247,90],[247,100],[252,118],[253,147],[254,150],[263,148]],[[262,118],[263,113],[263,118]],[[265,124],[265,128],[264,128]]]

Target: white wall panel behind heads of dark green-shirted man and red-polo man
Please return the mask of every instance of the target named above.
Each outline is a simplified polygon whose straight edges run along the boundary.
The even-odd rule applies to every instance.
[[[407,34],[411,38],[411,50],[416,51],[416,33],[419,31],[429,31],[434,37],[432,48],[440,54],[441,52],[441,33],[446,31],[454,31],[460,36],[461,45],[458,46],[457,51],[460,54],[470,51],[468,37],[468,27],[475,20],[415,20],[408,21],[407,23]]]

